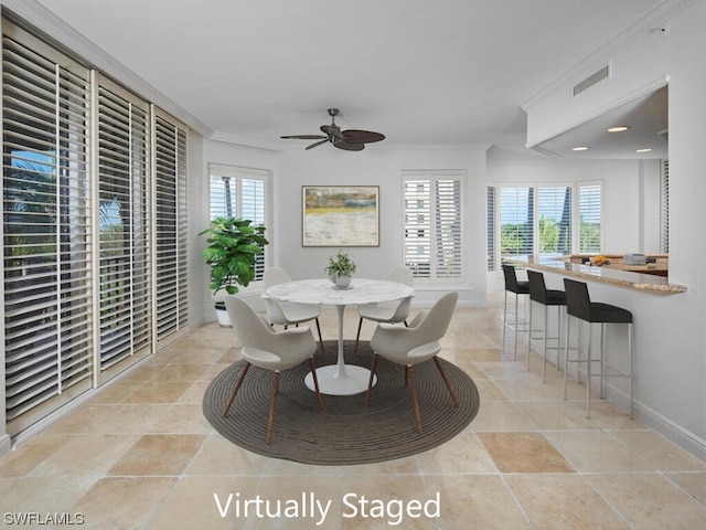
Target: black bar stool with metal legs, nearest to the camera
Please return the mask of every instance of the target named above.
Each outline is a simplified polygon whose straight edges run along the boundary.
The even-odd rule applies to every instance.
[[[630,394],[630,417],[633,413],[633,399],[632,399],[632,312],[628,309],[623,309],[618,306],[611,306],[610,304],[602,304],[600,301],[591,301],[588,295],[588,286],[584,282],[575,282],[573,279],[564,278],[564,287],[566,289],[566,349],[564,352],[564,399],[566,400],[566,377],[568,373],[568,363],[586,363],[586,417],[590,417],[591,414],[591,377],[596,374],[591,373],[591,365],[593,362],[600,362],[600,395],[603,396],[603,383],[607,377],[621,377],[628,378],[628,388]],[[577,354],[576,359],[569,359],[569,321],[570,317],[578,318],[589,322],[588,344],[587,344],[587,358],[585,360],[579,359]],[[600,358],[591,358],[591,328],[593,324],[600,324]],[[609,363],[606,360],[603,352],[605,342],[605,325],[606,324],[627,324],[628,325],[628,368],[621,369],[614,364]],[[579,322],[580,325],[580,322]],[[579,350],[580,351],[580,350]],[[580,364],[577,364],[578,373],[580,375]],[[610,369],[616,373],[606,373],[606,369]]]

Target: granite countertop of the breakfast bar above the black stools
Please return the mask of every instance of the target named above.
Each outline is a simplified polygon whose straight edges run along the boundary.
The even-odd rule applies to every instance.
[[[681,284],[671,284],[667,277],[644,274],[622,268],[607,266],[595,266],[582,263],[575,263],[569,255],[535,254],[524,256],[503,257],[504,262],[515,265],[523,265],[527,268],[547,271],[550,273],[574,276],[584,279],[591,279],[605,284],[612,284],[629,289],[642,290],[654,294],[677,294],[686,293],[687,287]],[[610,257],[610,256],[609,256]],[[580,262],[580,259],[579,259]]]

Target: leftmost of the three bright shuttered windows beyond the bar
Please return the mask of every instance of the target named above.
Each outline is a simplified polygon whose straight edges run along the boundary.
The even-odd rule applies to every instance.
[[[500,252],[503,256],[534,252],[534,189],[500,189]]]

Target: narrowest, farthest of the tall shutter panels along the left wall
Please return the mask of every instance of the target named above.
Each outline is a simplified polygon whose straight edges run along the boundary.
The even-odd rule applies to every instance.
[[[186,128],[154,110],[154,271],[157,340],[188,330]]]

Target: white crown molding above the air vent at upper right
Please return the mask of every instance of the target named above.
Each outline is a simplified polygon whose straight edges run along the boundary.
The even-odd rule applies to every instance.
[[[587,72],[592,72],[600,67],[600,65],[610,61],[623,46],[662,28],[667,20],[696,3],[696,1],[698,0],[663,0],[520,106],[527,110],[556,86],[570,84],[575,80],[581,78]]]

